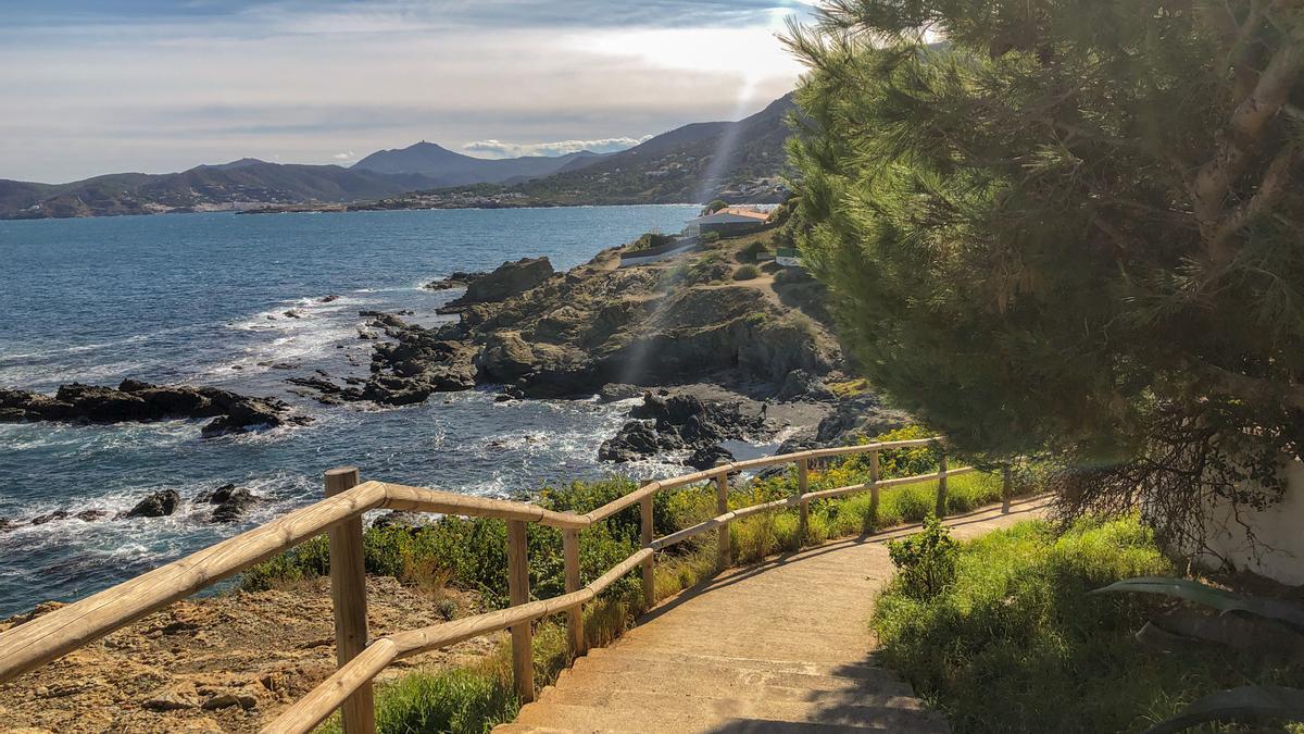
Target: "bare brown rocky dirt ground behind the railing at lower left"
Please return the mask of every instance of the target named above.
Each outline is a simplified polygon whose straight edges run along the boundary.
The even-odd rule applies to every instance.
[[[390,577],[369,579],[372,636],[443,622],[438,601]],[[0,622],[0,631],[30,618]],[[485,656],[497,644],[486,636],[404,660],[377,680]],[[0,686],[0,731],[257,731],[334,667],[326,580],[183,601]]]

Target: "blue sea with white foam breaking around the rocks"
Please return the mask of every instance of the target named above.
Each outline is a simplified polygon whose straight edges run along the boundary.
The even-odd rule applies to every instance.
[[[364,375],[359,311],[412,311],[424,325],[460,291],[422,285],[456,270],[545,255],[558,269],[696,206],[584,206],[240,215],[164,214],[0,222],[0,388],[116,385],[124,377],[275,396],[313,418],[203,439],[205,421],[116,426],[0,424],[0,618],[73,601],[322,496],[322,473],[471,495],[514,496],[615,471],[599,444],[629,405],[496,402],[485,387],[424,405],[326,406],[287,377]],[[335,296],[327,302],[327,296]],[[289,317],[295,311],[301,317]],[[665,465],[622,466],[653,474]],[[200,492],[235,483],[263,502],[230,525]],[[183,499],[168,517],[31,525],[53,511],[129,509],[150,492]]]

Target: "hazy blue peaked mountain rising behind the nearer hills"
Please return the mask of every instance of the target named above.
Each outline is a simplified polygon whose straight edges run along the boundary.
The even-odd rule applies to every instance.
[[[439,182],[439,185],[515,183],[549,176],[563,168],[583,167],[604,157],[600,153],[580,150],[558,157],[472,158],[422,140],[408,148],[372,153],[353,163],[352,170],[420,174]]]

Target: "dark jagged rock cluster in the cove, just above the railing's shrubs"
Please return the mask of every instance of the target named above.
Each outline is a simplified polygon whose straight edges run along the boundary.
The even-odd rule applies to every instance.
[[[690,449],[694,460],[715,466],[716,460],[733,457],[716,445],[728,439],[759,439],[773,427],[759,413],[745,413],[738,404],[702,401],[692,394],[643,396],[643,404],[630,411],[634,421],[599,448],[600,461],[636,461],[657,453]],[[703,468],[705,468],[703,466]]]

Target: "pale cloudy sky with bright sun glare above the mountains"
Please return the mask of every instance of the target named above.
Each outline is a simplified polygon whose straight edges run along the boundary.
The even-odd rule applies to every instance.
[[[0,179],[619,150],[792,90],[810,0],[0,0]]]

